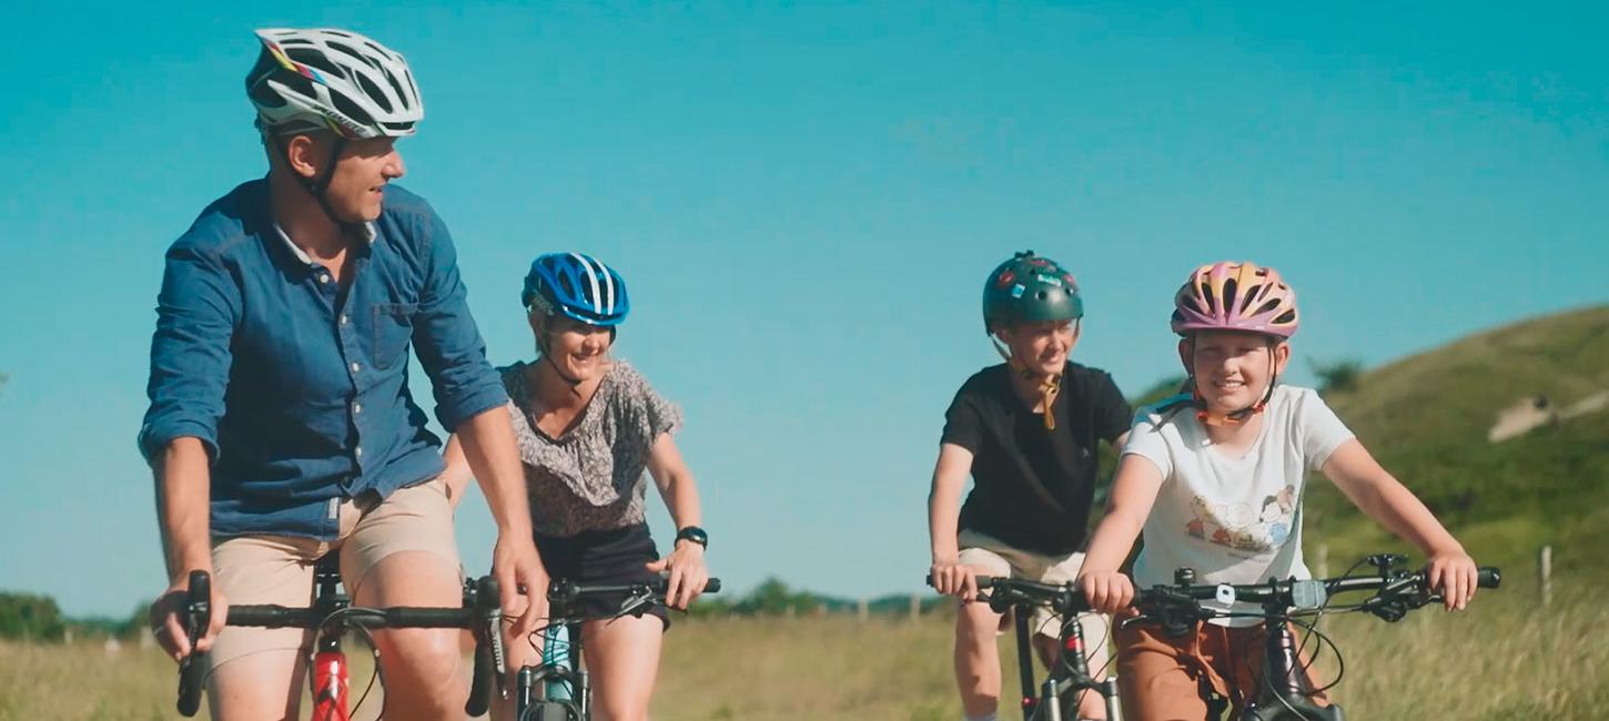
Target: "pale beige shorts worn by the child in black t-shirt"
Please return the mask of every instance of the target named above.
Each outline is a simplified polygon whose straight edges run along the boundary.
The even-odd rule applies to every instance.
[[[961,563],[978,568],[988,576],[1010,576],[1039,583],[1072,583],[1078,578],[1078,568],[1084,565],[1084,554],[1041,555],[1031,550],[1014,549],[994,536],[972,529],[962,529],[956,536],[956,542],[961,546]],[[1099,676],[1099,671],[1105,670],[1112,658],[1112,620],[1101,613],[1080,613],[1078,626],[1084,629],[1089,671]],[[1062,621],[1049,608],[1041,607],[1033,612],[1028,628],[1039,636],[1054,639],[1062,632]]]

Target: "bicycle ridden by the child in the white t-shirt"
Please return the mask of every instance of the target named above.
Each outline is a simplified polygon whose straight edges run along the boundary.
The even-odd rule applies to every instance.
[[[1316,621],[1307,623],[1303,618],[1323,613],[1371,613],[1389,623],[1400,621],[1408,612],[1427,604],[1442,600],[1442,595],[1429,587],[1424,570],[1406,571],[1398,568],[1408,557],[1397,554],[1376,554],[1360,560],[1353,568],[1369,563],[1376,568],[1371,576],[1353,576],[1347,571],[1337,578],[1316,579],[1270,579],[1260,584],[1213,584],[1197,586],[1195,571],[1179,568],[1175,571],[1173,586],[1154,586],[1136,594],[1134,607],[1139,616],[1123,621],[1157,623],[1168,636],[1181,637],[1194,632],[1197,623],[1213,618],[1260,618],[1266,623],[1268,632],[1263,639],[1261,690],[1249,703],[1239,721],[1344,721],[1339,705],[1321,707],[1313,702],[1313,695],[1329,690],[1340,682],[1345,663],[1340,661],[1340,650]],[[1500,587],[1503,575],[1498,568],[1482,566],[1477,586],[1485,589]],[[1372,591],[1374,595],[1352,605],[1331,605],[1335,594]],[[1216,600],[1224,607],[1236,602],[1260,604],[1260,613],[1234,612],[1204,605],[1205,600]],[[1334,650],[1340,670],[1329,684],[1311,689],[1307,679],[1307,668],[1290,626],[1305,628],[1323,644]],[[1210,705],[1210,718],[1221,718],[1224,703]]]

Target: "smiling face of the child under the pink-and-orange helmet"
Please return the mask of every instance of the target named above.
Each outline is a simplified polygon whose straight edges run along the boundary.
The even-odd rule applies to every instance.
[[[1274,373],[1286,370],[1290,344],[1261,333],[1202,332],[1179,341],[1179,360],[1207,409],[1232,414],[1263,399]]]

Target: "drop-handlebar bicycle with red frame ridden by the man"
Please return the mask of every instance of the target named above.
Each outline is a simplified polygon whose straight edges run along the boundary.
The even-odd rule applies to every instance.
[[[211,608],[212,579],[206,571],[190,571],[190,587],[185,595],[185,631],[190,636],[191,649],[206,631],[212,618]],[[230,605],[230,626],[257,628],[302,628],[315,629],[312,657],[307,674],[312,687],[314,721],[351,721],[348,711],[348,665],[341,650],[341,637],[348,631],[360,631],[365,636],[375,628],[462,628],[475,636],[475,676],[470,686],[470,698],[463,711],[470,716],[486,713],[491,686],[496,684],[499,694],[504,692],[504,647],[499,626],[502,623],[502,607],[497,595],[497,581],[491,576],[463,581],[463,605],[459,608],[423,608],[423,607],[389,607],[365,608],[356,607],[341,591],[339,562],[335,554],[319,558],[314,566],[314,600],[309,607],[283,605]],[[370,644],[373,645],[373,644]],[[201,705],[203,674],[206,670],[206,653],[190,653],[179,663],[179,713],[195,716]],[[377,668],[370,678],[380,676]],[[368,690],[357,700],[360,708],[368,697]]]

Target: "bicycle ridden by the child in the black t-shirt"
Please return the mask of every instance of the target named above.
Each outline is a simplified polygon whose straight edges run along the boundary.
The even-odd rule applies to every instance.
[[[1073,584],[1047,584],[1025,581],[1007,576],[973,576],[978,584],[980,604],[988,604],[994,613],[1012,612],[1017,629],[1017,673],[1022,679],[1022,718],[1023,721],[1062,721],[1076,718],[1078,697],[1084,690],[1101,694],[1107,707],[1109,721],[1121,721],[1123,710],[1118,705],[1117,678],[1107,676],[1096,681],[1089,673],[1089,655],[1084,642],[1084,629],[1078,624],[1080,613],[1089,613],[1089,602],[1073,589]],[[928,586],[933,576],[927,578]],[[983,594],[981,591],[988,591]],[[1047,607],[1062,618],[1062,629],[1057,634],[1056,663],[1051,665],[1039,692],[1035,695],[1033,670],[1033,631],[1028,618],[1035,607]]]

